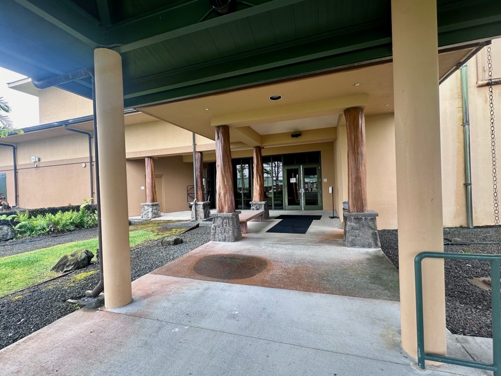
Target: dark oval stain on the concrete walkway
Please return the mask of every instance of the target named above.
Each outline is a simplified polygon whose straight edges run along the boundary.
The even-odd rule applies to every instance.
[[[244,279],[261,273],[267,265],[268,261],[262,257],[229,253],[202,257],[193,270],[215,279]]]

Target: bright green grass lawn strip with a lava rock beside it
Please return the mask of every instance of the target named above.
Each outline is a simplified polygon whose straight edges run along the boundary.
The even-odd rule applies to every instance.
[[[129,243],[131,247],[134,247],[145,241],[176,235],[182,231],[184,229],[155,231],[153,228],[132,231],[129,234]],[[88,249],[96,254],[97,248],[98,239],[95,238],[0,258],[0,296],[56,277],[60,273],[51,272],[51,268],[64,255],[69,255],[79,249]]]

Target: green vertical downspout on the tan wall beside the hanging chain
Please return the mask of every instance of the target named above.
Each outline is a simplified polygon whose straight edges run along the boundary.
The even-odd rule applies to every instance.
[[[466,223],[468,228],[473,228],[473,202],[471,199],[471,150],[469,134],[469,109],[468,109],[468,71],[467,65],[461,67],[461,92],[463,106],[464,134],[464,187],[466,189]]]

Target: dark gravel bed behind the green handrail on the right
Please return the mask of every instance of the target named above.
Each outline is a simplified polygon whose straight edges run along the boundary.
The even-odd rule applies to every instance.
[[[398,268],[397,230],[378,231],[381,248]],[[445,228],[445,242],[501,243],[501,230],[496,226]],[[445,245],[445,252],[501,254],[499,244]],[[492,337],[490,290],[468,282],[474,277],[489,277],[490,264],[484,261],[445,261],[445,304],[447,328],[453,334]]]

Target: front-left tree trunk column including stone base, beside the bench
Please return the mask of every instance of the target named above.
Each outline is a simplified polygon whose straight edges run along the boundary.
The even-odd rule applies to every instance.
[[[216,127],[216,212],[212,214],[210,240],[234,242],[241,238],[238,214],[235,212],[233,174],[229,128],[227,125]]]

